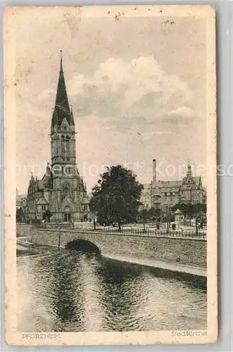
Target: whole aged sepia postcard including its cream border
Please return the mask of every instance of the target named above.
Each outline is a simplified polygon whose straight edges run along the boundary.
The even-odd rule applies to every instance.
[[[6,8],[4,101],[8,343],[216,341],[215,9]]]

